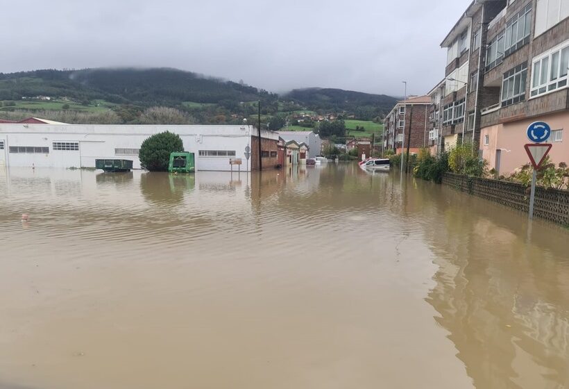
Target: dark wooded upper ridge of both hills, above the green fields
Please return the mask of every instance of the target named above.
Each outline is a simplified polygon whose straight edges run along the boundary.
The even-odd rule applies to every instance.
[[[348,112],[362,117],[387,113],[396,99],[333,88],[291,90],[278,96],[244,83],[235,83],[171,68],[43,69],[0,73],[0,101],[37,96],[67,97],[76,101],[101,99],[135,106],[180,106],[183,102],[232,107],[261,99],[276,106],[279,99],[295,101],[310,110]]]

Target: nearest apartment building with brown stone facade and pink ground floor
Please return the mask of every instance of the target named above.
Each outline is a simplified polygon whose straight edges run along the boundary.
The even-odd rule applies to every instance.
[[[527,126],[543,121],[553,129],[552,160],[568,162],[569,0],[475,0],[441,47],[442,147],[472,140],[508,174],[528,162]]]

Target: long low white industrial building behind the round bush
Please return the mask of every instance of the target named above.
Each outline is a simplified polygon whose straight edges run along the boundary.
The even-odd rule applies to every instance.
[[[249,171],[258,158],[253,148],[246,158],[251,135],[257,137],[253,126],[0,124],[0,166],[95,167],[104,158],[133,160],[140,169],[140,145],[164,131],[180,135],[185,151],[195,154],[196,170],[230,170],[230,158],[241,158],[241,170]],[[278,141],[272,131],[261,136]]]

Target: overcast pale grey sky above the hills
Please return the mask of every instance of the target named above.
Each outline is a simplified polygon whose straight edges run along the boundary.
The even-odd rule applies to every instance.
[[[443,78],[470,0],[0,0],[0,72],[176,67],[273,92],[402,95]]]

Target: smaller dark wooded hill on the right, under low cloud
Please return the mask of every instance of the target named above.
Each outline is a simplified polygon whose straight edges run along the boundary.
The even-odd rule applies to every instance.
[[[378,113],[388,113],[396,104],[395,97],[385,94],[369,94],[351,90],[331,88],[295,89],[282,98],[291,99],[299,104],[311,106],[314,110],[346,111],[357,117],[368,117]]]

